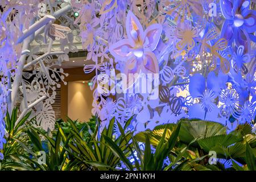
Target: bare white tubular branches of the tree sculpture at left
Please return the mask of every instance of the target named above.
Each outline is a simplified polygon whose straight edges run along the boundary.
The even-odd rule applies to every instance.
[[[56,18],[58,18],[59,16],[65,14],[65,13],[67,13],[69,10],[72,9],[71,5],[67,5],[67,6],[57,10],[56,12],[53,12],[50,1],[48,1],[48,3],[49,3],[49,7],[51,7],[51,14],[52,15],[45,15],[43,18],[41,18],[37,22],[31,23],[31,26],[29,28],[27,28],[27,30],[23,31],[22,36],[20,36],[19,39],[16,42],[16,44],[22,43],[22,53],[21,53],[21,56],[19,57],[19,60],[18,60],[18,63],[17,63],[18,68],[16,69],[16,73],[15,73],[15,76],[14,76],[14,81],[13,81],[12,84],[11,84],[11,77],[9,78],[10,79],[9,91],[11,92],[11,94],[9,94],[9,96],[8,96],[7,105],[8,105],[9,113],[11,113],[11,111],[15,107],[15,103],[16,103],[17,96],[18,96],[18,93],[19,93],[19,89],[22,88],[24,109],[23,109],[22,113],[19,115],[19,118],[17,119],[15,125],[17,125],[19,123],[19,121],[24,117],[24,115],[26,115],[26,113],[29,110],[32,109],[32,107],[38,105],[40,102],[42,102],[43,100],[46,100],[46,98],[47,98],[47,96],[42,96],[42,97],[38,98],[37,100],[35,100],[34,102],[32,102],[30,105],[28,105],[28,96],[27,96],[26,84],[24,84],[24,81],[22,79],[23,71],[25,71],[27,68],[29,68],[33,65],[38,65],[39,64],[40,68],[42,69],[42,71],[46,75],[47,80],[49,81],[49,84],[52,84],[51,77],[50,77],[49,72],[46,68],[46,65],[44,64],[43,59],[45,57],[51,56],[51,55],[63,55],[63,54],[65,54],[65,52],[63,52],[63,51],[51,51],[52,44],[53,44],[53,39],[50,38],[48,48],[47,48],[47,52],[43,53],[43,55],[40,55],[40,56],[36,57],[36,59],[34,59],[34,60],[32,60],[32,61],[30,61],[29,63],[26,64],[26,57],[27,57],[28,53],[31,53],[30,44],[36,38],[36,36],[42,34],[43,32],[45,34],[44,36],[46,36],[46,31],[47,31],[46,28],[51,26],[51,24],[53,22],[55,22]]]

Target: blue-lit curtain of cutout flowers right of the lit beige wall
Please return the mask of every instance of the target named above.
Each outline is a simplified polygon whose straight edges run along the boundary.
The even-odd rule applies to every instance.
[[[84,71],[96,71],[93,114],[102,128],[133,115],[137,132],[180,118],[253,126],[255,2],[92,1],[81,12],[80,34],[92,31],[84,47],[95,62]],[[151,97],[154,88],[143,92],[143,76],[157,82],[158,97]]]

